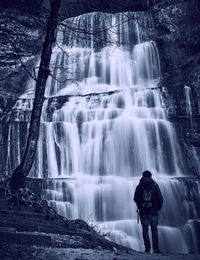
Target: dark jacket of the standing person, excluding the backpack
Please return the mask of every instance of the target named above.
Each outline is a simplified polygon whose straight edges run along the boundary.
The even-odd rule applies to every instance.
[[[144,209],[142,207],[142,189],[151,187],[153,190],[152,202],[153,206],[149,209]],[[162,208],[163,205],[163,197],[160,191],[158,184],[151,177],[142,177],[140,179],[139,185],[136,187],[134,194],[134,201],[137,204],[140,213],[147,213],[150,215],[158,215],[158,211]]]

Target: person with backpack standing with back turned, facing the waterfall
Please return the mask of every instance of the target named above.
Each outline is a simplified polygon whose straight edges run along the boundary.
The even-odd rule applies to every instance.
[[[144,171],[136,187],[134,201],[139,210],[145,252],[150,253],[149,225],[152,232],[153,252],[160,253],[158,241],[158,211],[163,206],[163,197],[158,184],[151,178],[150,171]]]

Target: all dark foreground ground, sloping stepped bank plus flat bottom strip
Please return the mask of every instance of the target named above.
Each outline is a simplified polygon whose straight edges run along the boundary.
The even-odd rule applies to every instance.
[[[83,220],[59,216],[30,190],[0,189],[0,259],[197,260],[200,255],[146,254],[108,241]]]

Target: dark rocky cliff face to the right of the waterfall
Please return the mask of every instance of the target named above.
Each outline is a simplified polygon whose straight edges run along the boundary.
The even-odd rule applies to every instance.
[[[193,152],[200,147],[200,3],[175,1],[153,11],[160,56],[164,99],[169,117],[177,125],[189,171],[197,172]],[[189,91],[189,92],[187,92]],[[195,169],[196,168],[196,169]]]

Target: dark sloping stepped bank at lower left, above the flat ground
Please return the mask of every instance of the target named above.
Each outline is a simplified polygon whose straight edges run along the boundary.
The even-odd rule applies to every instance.
[[[17,245],[126,250],[106,240],[83,220],[58,215],[27,188],[1,189],[1,242]]]

